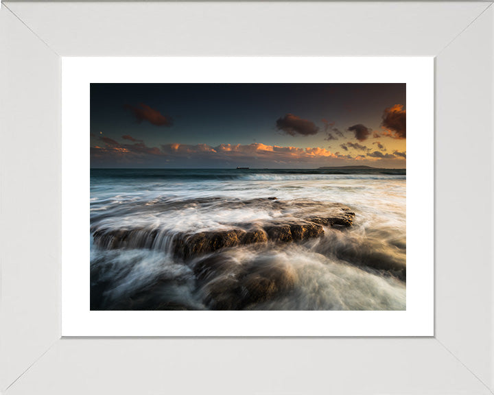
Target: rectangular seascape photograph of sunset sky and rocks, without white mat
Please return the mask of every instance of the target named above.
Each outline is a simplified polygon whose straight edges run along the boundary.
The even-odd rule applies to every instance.
[[[91,84],[90,308],[406,310],[406,84]]]

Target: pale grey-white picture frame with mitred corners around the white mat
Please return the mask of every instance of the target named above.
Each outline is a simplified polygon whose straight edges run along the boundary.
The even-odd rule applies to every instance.
[[[1,392],[491,394],[491,5],[4,3]],[[436,58],[434,337],[60,338],[60,59],[192,55]]]

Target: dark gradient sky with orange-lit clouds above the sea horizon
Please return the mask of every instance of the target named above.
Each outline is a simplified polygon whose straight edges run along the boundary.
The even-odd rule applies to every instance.
[[[91,167],[405,168],[405,84],[91,84]]]

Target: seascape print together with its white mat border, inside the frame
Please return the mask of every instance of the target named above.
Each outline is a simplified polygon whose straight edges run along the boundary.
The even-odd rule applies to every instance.
[[[62,335],[433,335],[433,71],[64,60]]]

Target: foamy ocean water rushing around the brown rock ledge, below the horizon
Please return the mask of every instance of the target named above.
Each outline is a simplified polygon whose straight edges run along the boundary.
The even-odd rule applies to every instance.
[[[404,170],[91,169],[91,309],[403,310],[405,184]],[[342,208],[353,225],[318,237],[176,254],[183,235]]]

